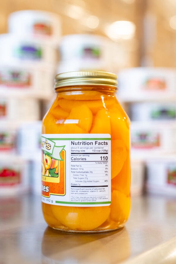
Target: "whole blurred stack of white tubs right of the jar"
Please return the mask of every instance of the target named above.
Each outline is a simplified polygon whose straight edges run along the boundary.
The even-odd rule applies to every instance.
[[[146,189],[176,193],[176,71],[131,68],[119,73],[119,97],[131,118],[133,160],[145,164]],[[144,170],[143,170],[144,172]],[[141,173],[141,178],[144,175]],[[141,182],[142,183],[142,182]],[[143,188],[141,184],[141,188]]]

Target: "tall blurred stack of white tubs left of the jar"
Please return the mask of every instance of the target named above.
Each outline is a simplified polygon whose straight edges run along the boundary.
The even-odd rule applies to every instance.
[[[57,15],[32,10],[10,14],[8,23],[0,35],[0,193],[10,195],[40,192],[37,120],[53,96],[61,26]]]

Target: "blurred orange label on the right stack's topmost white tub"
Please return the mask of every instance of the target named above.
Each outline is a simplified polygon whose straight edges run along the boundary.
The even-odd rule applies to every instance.
[[[145,90],[165,90],[166,81],[164,78],[149,77],[143,82],[142,86]]]

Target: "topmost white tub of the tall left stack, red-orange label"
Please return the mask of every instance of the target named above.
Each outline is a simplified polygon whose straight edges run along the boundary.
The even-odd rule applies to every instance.
[[[55,13],[22,10],[9,15],[9,32],[16,35],[49,39],[54,42],[60,39],[61,21]]]

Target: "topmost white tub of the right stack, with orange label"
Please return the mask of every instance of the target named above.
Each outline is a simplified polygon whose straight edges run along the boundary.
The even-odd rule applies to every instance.
[[[176,71],[170,68],[129,68],[118,74],[118,81],[119,94],[128,97],[176,92]]]

